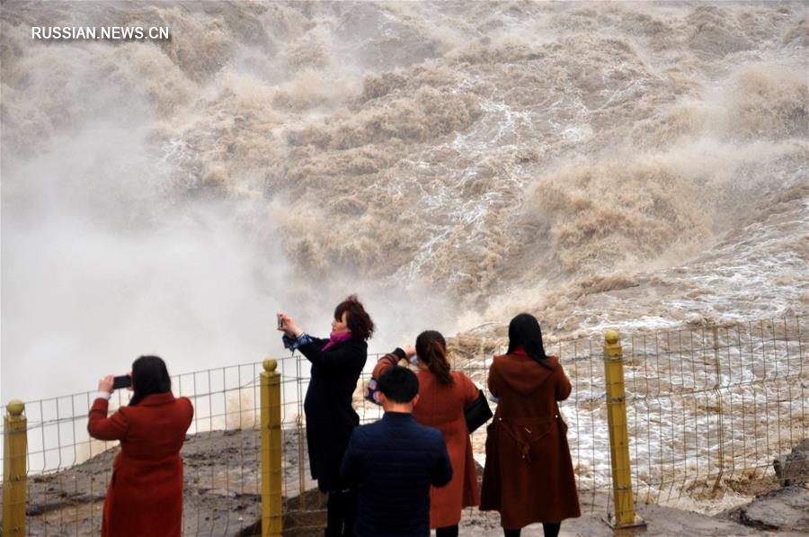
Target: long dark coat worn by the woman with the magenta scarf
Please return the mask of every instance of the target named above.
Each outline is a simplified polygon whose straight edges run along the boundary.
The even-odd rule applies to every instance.
[[[309,469],[324,492],[347,488],[340,479],[340,464],[351,431],[360,424],[351,396],[368,357],[368,344],[360,339],[352,337],[322,350],[328,341],[313,337],[312,343],[298,347],[312,362],[304,400]]]

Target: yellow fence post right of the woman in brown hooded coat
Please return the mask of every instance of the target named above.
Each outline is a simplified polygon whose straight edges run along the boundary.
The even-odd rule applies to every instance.
[[[617,331],[608,330],[605,341],[604,380],[607,385],[609,460],[612,463],[612,494],[615,500],[615,515],[608,514],[606,521],[613,529],[642,526],[646,523],[635,514],[632,497],[624,354]]]

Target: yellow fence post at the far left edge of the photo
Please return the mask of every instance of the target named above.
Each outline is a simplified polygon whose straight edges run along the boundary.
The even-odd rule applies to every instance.
[[[25,489],[28,485],[28,419],[22,416],[25,405],[12,399],[5,407],[3,440],[3,534],[25,535]]]

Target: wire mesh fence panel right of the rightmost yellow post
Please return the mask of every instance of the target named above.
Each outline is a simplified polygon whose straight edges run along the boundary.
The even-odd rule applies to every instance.
[[[636,500],[716,511],[775,486],[806,438],[803,319],[624,340]]]

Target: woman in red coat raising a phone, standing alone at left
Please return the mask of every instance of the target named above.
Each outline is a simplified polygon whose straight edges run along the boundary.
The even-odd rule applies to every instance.
[[[99,440],[120,440],[104,498],[102,537],[180,537],[182,459],[180,448],[194,409],[174,398],[163,360],[141,356],[132,363],[134,395],[107,417],[113,377],[98,382],[87,430]]]

